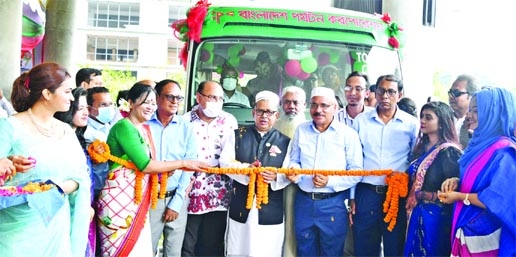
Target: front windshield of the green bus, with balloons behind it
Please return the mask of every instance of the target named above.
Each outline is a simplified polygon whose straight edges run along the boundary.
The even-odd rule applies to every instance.
[[[258,38],[204,41],[195,50],[193,65],[190,92],[203,80],[220,81],[225,70],[234,68],[238,74],[236,90],[246,95],[251,105],[259,91],[281,95],[287,86],[301,87],[307,103],[314,87],[329,87],[345,105],[345,80],[352,71],[366,73],[370,84],[381,75],[401,73],[397,52],[387,48]],[[187,101],[195,103],[193,94]]]

